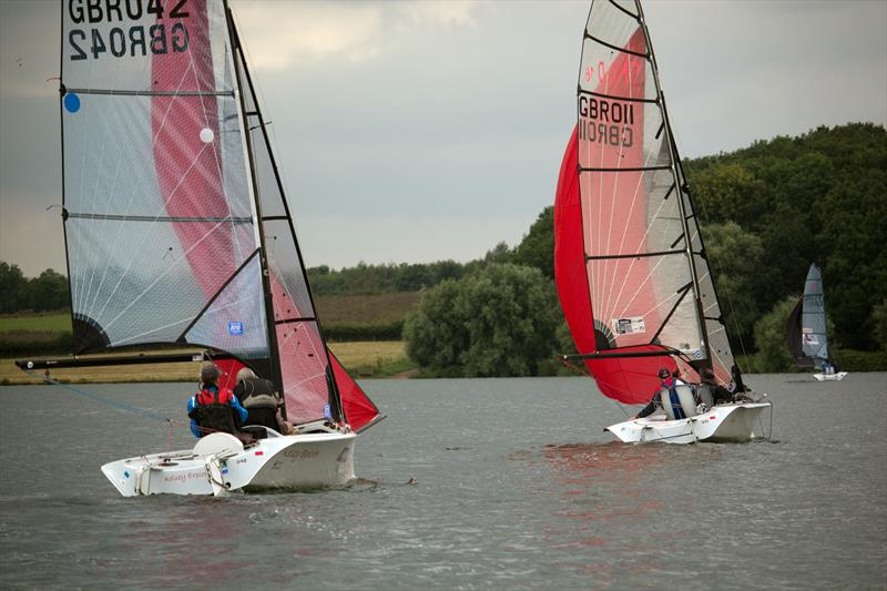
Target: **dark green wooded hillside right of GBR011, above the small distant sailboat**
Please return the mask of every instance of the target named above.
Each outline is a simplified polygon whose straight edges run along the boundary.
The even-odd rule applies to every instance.
[[[762,262],[744,275],[759,309],[801,289],[816,262],[837,339],[854,349],[879,345],[859,327],[870,326],[875,305],[887,298],[884,126],[822,126],[685,164],[702,218],[735,222],[761,241]],[[712,236],[703,234],[710,248]]]

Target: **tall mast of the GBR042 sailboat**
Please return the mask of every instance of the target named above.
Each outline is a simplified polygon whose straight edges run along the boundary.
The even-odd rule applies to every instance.
[[[248,164],[249,164],[249,185],[252,187],[252,197],[253,197],[253,206],[255,207],[256,213],[256,232],[259,238],[259,265],[262,268],[262,291],[264,292],[264,304],[265,304],[265,323],[266,329],[268,334],[268,349],[269,349],[269,357],[271,357],[271,380],[274,385],[278,386],[283,391],[284,379],[283,379],[283,371],[281,370],[281,355],[279,349],[277,348],[277,328],[274,320],[274,300],[271,292],[271,272],[268,271],[268,262],[267,262],[267,249],[265,246],[265,231],[262,225],[262,204],[259,203],[261,200],[258,198],[258,184],[256,183],[255,177],[255,162],[253,159],[253,143],[249,139],[249,130],[246,129],[246,104],[243,100],[243,83],[241,81],[241,73],[237,69],[237,63],[235,61],[235,55],[233,52],[239,52],[241,59],[244,63],[244,71],[246,71],[246,60],[243,55],[243,49],[241,48],[241,40],[237,35],[237,30],[234,28],[234,18],[231,14],[231,8],[228,7],[227,0],[225,0],[225,19],[227,20],[228,24],[228,38],[231,39],[231,48],[232,48],[232,67],[234,68],[234,77],[237,81],[237,101],[239,103],[239,111],[242,116],[242,124],[244,128],[244,141],[246,142],[246,152],[248,155]],[[248,73],[247,73],[248,77]],[[252,88],[252,85],[251,85]],[[258,111],[258,105],[256,105],[256,111]],[[259,114],[259,118],[262,115]],[[286,419],[286,407],[283,407],[282,414],[284,415],[284,419]]]

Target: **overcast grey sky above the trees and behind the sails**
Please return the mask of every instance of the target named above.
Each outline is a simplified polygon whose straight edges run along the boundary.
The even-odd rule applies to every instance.
[[[588,1],[231,4],[307,266],[470,261],[552,204]],[[887,122],[885,0],[644,12],[684,159]],[[0,0],[0,259],[27,276],[65,268],[59,18]]]

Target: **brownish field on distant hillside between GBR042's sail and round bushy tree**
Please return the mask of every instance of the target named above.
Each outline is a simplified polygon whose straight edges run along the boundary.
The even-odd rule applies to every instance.
[[[315,298],[317,316],[324,326],[335,324],[384,324],[402,320],[416,304],[419,292],[392,294],[322,296]]]

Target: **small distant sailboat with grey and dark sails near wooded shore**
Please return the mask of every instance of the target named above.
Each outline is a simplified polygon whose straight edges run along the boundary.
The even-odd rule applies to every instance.
[[[807,281],[804,282],[804,295],[788,315],[786,339],[798,367],[822,369],[813,375],[818,381],[839,381],[847,376],[847,371],[835,371],[828,359],[823,274],[816,263],[810,264]]]

